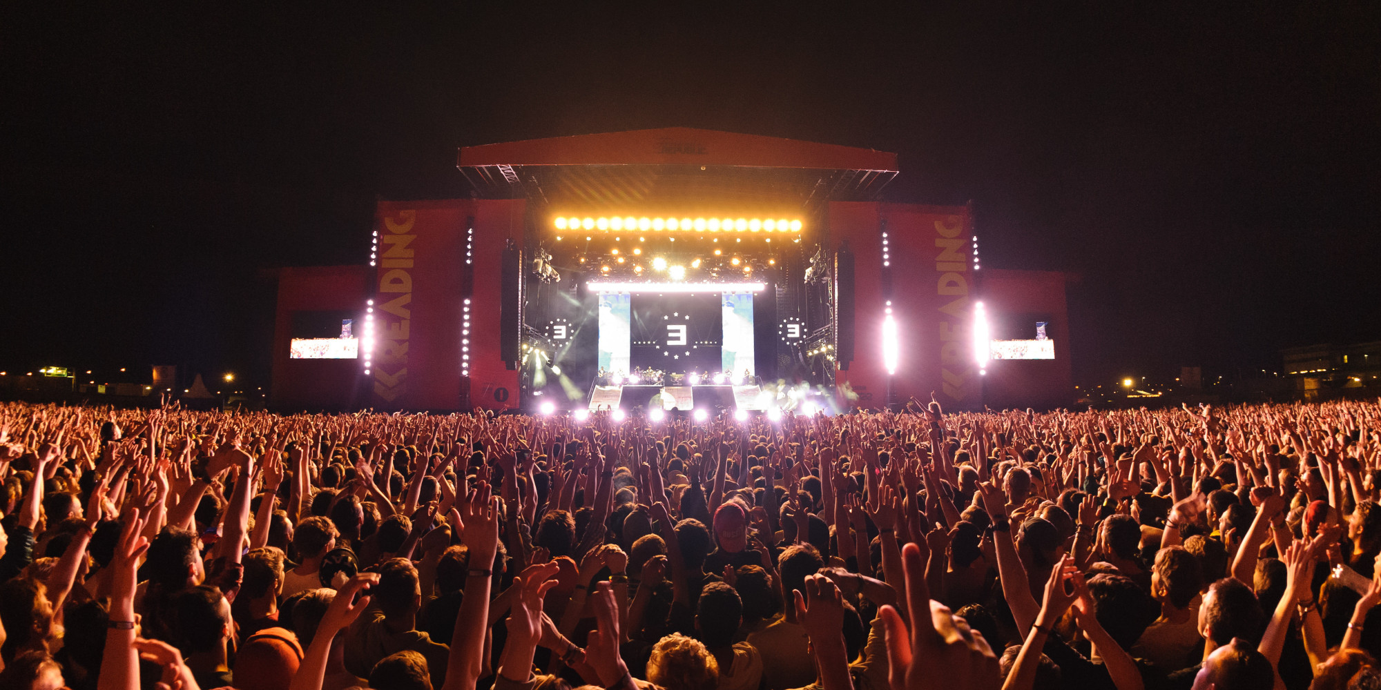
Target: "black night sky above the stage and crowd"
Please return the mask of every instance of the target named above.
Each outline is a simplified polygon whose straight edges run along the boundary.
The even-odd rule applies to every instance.
[[[1081,276],[1076,382],[1381,338],[1375,3],[249,4],[0,11],[0,370],[264,382],[265,269],[457,146],[667,126],[898,152],[985,266]]]

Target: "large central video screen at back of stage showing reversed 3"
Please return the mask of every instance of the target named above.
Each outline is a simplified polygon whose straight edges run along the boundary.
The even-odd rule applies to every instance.
[[[602,293],[599,367],[754,373],[753,293]]]

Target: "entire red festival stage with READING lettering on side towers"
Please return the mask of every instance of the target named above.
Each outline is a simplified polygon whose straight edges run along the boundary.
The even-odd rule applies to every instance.
[[[892,153],[664,128],[457,167],[470,199],[378,203],[365,264],[283,269],[271,404],[1073,399],[1065,277],[982,265],[969,207],[881,201]]]

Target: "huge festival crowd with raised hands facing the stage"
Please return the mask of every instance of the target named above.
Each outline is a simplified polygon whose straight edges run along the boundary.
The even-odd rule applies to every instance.
[[[0,406],[0,690],[1381,689],[1381,404]]]

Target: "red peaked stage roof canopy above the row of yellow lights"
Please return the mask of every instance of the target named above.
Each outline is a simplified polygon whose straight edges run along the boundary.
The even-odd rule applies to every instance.
[[[581,211],[813,211],[898,172],[895,153],[688,127],[465,146],[457,167],[481,197]]]

